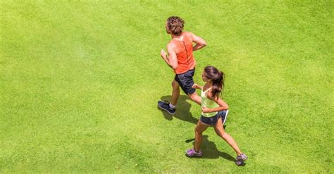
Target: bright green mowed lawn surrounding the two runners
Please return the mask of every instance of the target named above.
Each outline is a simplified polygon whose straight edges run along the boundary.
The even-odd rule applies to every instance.
[[[333,4],[0,0],[0,173],[334,173]],[[226,74],[245,166],[212,128],[185,156],[201,111],[183,92],[175,116],[156,106],[171,15],[208,42],[194,80]]]

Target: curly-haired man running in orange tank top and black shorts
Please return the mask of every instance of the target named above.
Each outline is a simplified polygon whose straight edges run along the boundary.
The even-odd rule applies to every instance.
[[[194,85],[192,77],[196,66],[192,51],[202,49],[206,46],[206,42],[192,32],[184,32],[184,24],[185,21],[178,16],[171,16],[167,19],[166,32],[171,35],[172,39],[167,44],[168,56],[163,50],[160,53],[167,65],[173,68],[175,78],[172,82],[171,102],[158,101],[158,106],[172,115],[175,113],[175,105],[180,96],[180,87],[192,101],[201,104],[201,97],[195,92],[196,89],[192,88]],[[192,46],[193,42],[194,46]]]

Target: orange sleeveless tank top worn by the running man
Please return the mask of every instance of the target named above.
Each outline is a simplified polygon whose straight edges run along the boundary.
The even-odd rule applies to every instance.
[[[176,53],[178,68],[174,70],[174,73],[182,74],[194,69],[196,61],[194,60],[194,55],[192,55],[192,41],[187,35],[183,34],[182,40],[172,39],[171,42],[175,44],[178,49],[178,53]]]

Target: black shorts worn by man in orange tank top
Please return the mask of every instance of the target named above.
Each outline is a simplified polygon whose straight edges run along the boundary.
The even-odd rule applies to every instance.
[[[185,94],[193,94],[196,91],[196,89],[192,88],[192,85],[194,85],[194,79],[192,79],[193,76],[194,69],[188,70],[183,74],[175,75],[175,81],[178,82]]]

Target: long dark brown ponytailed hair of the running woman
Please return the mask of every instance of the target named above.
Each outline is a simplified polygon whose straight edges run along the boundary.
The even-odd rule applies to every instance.
[[[206,66],[204,68],[204,75],[212,82],[212,97],[220,97],[224,87],[224,73],[215,68],[214,66]]]

